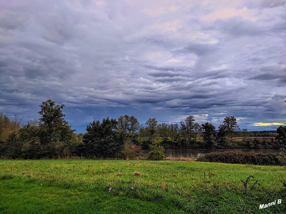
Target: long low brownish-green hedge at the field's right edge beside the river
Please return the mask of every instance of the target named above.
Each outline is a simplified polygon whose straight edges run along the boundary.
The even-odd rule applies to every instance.
[[[279,159],[279,154],[257,152],[210,152],[199,157],[196,161],[254,165],[282,165],[281,160]]]

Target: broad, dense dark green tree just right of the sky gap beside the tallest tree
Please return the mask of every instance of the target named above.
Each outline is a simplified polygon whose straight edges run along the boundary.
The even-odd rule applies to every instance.
[[[122,150],[123,138],[116,133],[116,119],[104,118],[93,121],[86,127],[86,133],[82,138],[83,152],[85,156],[98,158],[112,158]]]

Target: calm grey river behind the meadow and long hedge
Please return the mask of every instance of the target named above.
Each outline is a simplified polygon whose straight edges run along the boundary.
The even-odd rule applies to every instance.
[[[204,156],[209,152],[223,152],[227,150],[232,151],[252,151],[252,152],[280,152],[280,149],[165,149],[167,157],[178,157],[183,156],[186,158],[196,159],[199,156]],[[143,156],[147,157],[150,150],[143,150]]]

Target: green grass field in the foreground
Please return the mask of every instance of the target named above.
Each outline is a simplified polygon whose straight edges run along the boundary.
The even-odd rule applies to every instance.
[[[286,178],[279,166],[0,160],[0,213],[286,213],[279,173]],[[249,175],[245,191],[241,179]]]

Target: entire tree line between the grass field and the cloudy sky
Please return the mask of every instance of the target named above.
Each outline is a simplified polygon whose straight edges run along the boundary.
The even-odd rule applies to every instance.
[[[216,148],[237,133],[243,141],[249,136],[247,129],[240,130],[234,116],[225,117],[217,130],[209,122],[198,124],[194,116],[186,117],[179,124],[158,124],[155,118],[140,124],[134,116],[124,115],[117,120],[109,117],[94,120],[87,125],[86,133],[76,134],[64,119],[64,104],[47,100],[40,107],[41,118],[29,120],[25,125],[21,125],[17,116],[9,120],[0,114],[2,158],[128,158],[139,154],[141,149],[152,149],[161,154],[163,150],[159,146],[165,144],[174,148]],[[285,126],[277,129],[277,140],[283,142],[281,136],[285,130]]]

